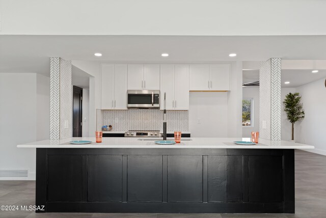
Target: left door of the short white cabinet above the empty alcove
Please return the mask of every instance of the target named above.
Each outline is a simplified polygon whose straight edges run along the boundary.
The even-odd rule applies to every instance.
[[[210,90],[209,65],[192,64],[189,66],[189,89],[190,90]]]

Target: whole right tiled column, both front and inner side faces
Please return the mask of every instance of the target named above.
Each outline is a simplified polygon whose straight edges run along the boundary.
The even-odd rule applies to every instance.
[[[281,59],[260,62],[259,69],[260,138],[281,140]],[[263,129],[263,122],[266,128]]]

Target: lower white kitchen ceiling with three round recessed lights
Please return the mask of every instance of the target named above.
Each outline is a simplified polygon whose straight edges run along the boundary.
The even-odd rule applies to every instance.
[[[49,57],[147,63],[326,60],[326,36],[0,36],[0,72],[49,75]],[[102,57],[94,57],[101,52]],[[170,54],[162,58],[162,52]],[[229,53],[237,53],[230,58]]]

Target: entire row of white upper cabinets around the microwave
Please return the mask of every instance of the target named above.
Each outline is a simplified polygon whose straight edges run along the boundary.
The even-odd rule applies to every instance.
[[[127,90],[160,90],[167,110],[188,110],[189,91],[229,91],[230,64],[102,64],[101,108],[126,110]]]

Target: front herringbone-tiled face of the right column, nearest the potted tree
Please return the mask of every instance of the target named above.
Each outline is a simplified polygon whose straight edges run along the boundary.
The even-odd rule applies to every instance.
[[[281,140],[281,59],[272,58],[270,67],[270,140]]]

